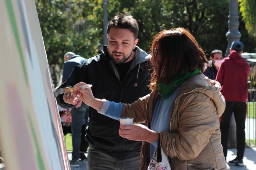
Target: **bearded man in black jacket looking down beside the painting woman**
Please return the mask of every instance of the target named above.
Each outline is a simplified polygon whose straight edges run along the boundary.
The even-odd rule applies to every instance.
[[[83,65],[76,66],[59,88],[85,82],[93,85],[91,89],[96,98],[122,103],[133,103],[150,93],[147,69],[151,55],[136,46],[138,31],[137,21],[132,16],[117,14],[108,23],[108,46],[103,46],[99,55],[89,58]],[[57,96],[57,102],[64,108],[79,107],[82,101],[73,105],[74,98],[73,94],[66,93]],[[120,137],[119,126],[119,121],[89,108],[88,170],[139,169],[141,142]]]

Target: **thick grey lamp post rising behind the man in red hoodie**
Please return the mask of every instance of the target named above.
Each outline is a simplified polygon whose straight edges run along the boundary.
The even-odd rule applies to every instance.
[[[231,47],[231,43],[233,41],[239,41],[241,37],[241,33],[238,30],[239,27],[239,15],[238,15],[238,0],[230,0],[229,1],[229,15],[228,15],[228,31],[226,33],[227,37],[227,49],[225,53],[225,57],[228,56],[229,48]]]

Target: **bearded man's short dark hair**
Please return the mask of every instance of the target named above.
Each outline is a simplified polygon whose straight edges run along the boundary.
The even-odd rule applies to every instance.
[[[107,33],[109,33],[110,28],[123,28],[130,29],[134,34],[134,39],[137,38],[139,27],[137,21],[133,18],[132,15],[128,15],[128,13],[117,13],[114,18],[109,21],[107,26]]]

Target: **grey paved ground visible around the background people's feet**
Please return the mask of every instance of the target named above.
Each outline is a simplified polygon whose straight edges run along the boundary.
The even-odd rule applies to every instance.
[[[87,154],[85,154],[87,156]],[[72,152],[68,151],[69,159],[72,157]],[[227,162],[236,158],[236,149],[228,149],[227,151]],[[245,148],[244,155],[244,167],[230,166],[230,170],[256,170],[256,147]],[[79,167],[71,167],[71,170],[87,170],[86,164],[83,161],[79,161]]]

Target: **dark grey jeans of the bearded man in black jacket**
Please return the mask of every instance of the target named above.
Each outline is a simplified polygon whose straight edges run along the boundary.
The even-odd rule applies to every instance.
[[[87,170],[139,170],[140,152],[110,155],[89,144]]]

